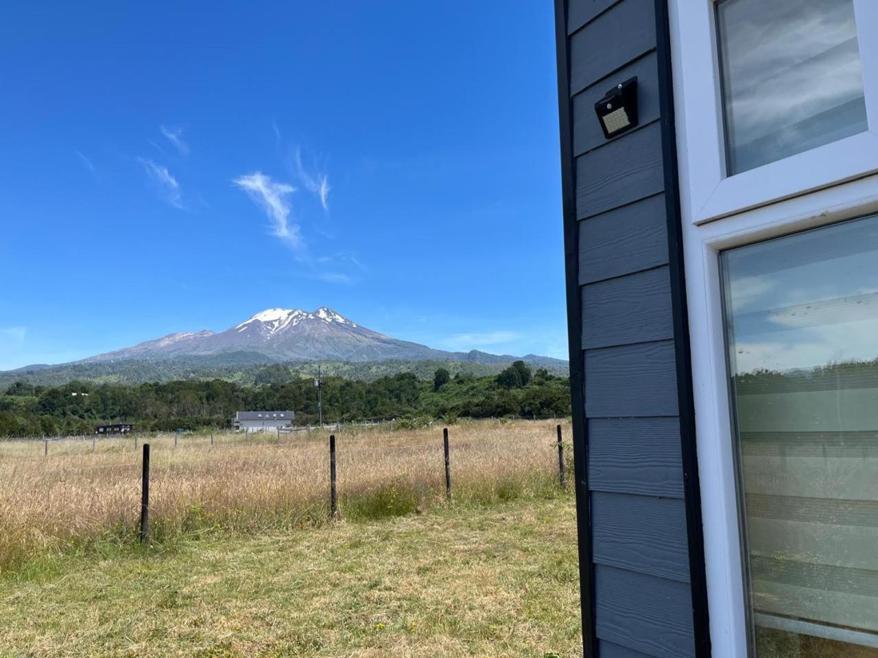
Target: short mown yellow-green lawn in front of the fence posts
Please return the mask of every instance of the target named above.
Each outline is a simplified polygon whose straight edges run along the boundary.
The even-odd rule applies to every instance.
[[[62,554],[0,580],[0,656],[574,655],[569,495]]]

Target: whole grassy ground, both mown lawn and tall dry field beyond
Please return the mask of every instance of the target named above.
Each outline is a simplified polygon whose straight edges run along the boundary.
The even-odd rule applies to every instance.
[[[565,437],[569,426],[563,425]],[[554,421],[0,442],[0,656],[576,655]],[[142,439],[139,441],[142,445]],[[568,460],[571,461],[571,460]]]

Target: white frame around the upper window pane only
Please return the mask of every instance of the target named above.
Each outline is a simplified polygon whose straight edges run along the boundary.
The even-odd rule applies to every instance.
[[[673,4],[678,7],[672,40],[677,41],[673,47],[680,54],[674,64],[674,88],[684,89],[676,108],[688,117],[685,125],[678,126],[678,131],[686,132],[688,145],[687,150],[680,150],[680,161],[686,161],[689,170],[688,184],[680,191],[691,209],[690,222],[703,224],[878,172],[878,39],[874,38],[878,2],[853,0],[867,132],[732,176],[726,172],[716,1],[673,0]],[[680,39],[679,35],[685,36]]]

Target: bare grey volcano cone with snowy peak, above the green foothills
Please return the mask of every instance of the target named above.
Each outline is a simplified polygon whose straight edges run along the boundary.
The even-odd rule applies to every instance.
[[[442,359],[450,353],[396,340],[357,325],[322,306],[316,311],[266,309],[224,332],[171,333],[85,361],[167,359],[176,356],[249,352],[270,360],[373,361]]]

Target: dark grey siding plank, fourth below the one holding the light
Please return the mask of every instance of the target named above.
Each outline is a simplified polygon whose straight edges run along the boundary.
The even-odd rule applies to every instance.
[[[586,350],[586,416],[677,416],[673,341]]]

